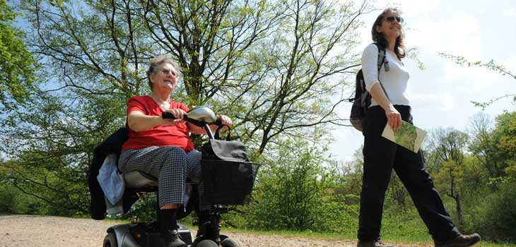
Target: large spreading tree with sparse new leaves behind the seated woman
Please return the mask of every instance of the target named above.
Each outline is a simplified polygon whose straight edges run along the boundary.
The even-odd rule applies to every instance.
[[[54,200],[45,190],[58,191],[61,180],[83,186],[59,193],[88,193],[93,147],[124,126],[131,95],[148,93],[147,64],[160,54],[182,68],[174,100],[231,116],[257,158],[288,138],[346,125],[335,109],[348,95],[359,17],[368,11],[365,3],[290,0],[26,0],[17,8],[45,83],[33,90],[30,112],[1,119],[13,143],[1,152],[18,186],[42,187],[42,200]],[[30,164],[45,172],[20,169]],[[88,198],[78,200],[86,212]]]

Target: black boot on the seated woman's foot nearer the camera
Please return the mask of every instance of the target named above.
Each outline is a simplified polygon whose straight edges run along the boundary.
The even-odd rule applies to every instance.
[[[158,224],[164,247],[187,247],[177,232],[176,209],[160,210],[158,212]]]

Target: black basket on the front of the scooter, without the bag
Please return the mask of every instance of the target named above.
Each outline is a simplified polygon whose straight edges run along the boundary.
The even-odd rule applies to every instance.
[[[201,159],[204,198],[218,205],[245,205],[251,200],[259,164]]]

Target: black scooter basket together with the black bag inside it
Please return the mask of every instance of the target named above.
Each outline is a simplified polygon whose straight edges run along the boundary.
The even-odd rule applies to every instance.
[[[219,130],[201,149],[204,198],[211,204],[245,205],[250,202],[258,165],[250,162],[242,142],[230,140],[230,133],[221,140]]]

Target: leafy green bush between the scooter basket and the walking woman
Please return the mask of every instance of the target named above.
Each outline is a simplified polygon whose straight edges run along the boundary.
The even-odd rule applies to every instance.
[[[324,196],[332,181],[323,162],[322,150],[303,140],[286,141],[278,153],[262,159],[249,227],[313,230],[324,220]]]

